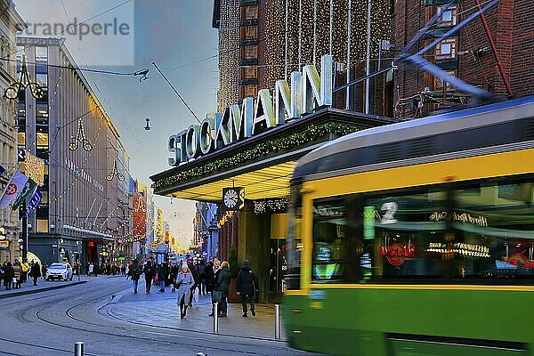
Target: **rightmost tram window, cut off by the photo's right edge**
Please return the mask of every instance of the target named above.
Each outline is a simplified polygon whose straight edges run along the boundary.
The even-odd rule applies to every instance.
[[[534,183],[481,182],[455,191],[457,263],[466,279],[534,277]]]

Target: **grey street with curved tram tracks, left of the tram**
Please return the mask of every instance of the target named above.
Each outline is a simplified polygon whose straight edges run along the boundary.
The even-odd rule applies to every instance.
[[[166,320],[161,311],[158,323],[143,325],[127,318],[113,318],[108,311],[117,308],[131,282],[121,277],[98,277],[85,284],[48,290],[36,294],[0,299],[0,355],[61,356],[72,355],[75,342],[85,343],[86,356],[196,355],[311,355],[290,349],[286,343],[262,337],[215,335],[191,331],[180,320]],[[142,287],[140,287],[142,290]],[[117,302],[118,300],[118,302]],[[156,312],[143,302],[147,318]],[[127,305],[125,306],[127,311]],[[171,308],[171,307],[169,307]],[[138,314],[139,311],[136,311]],[[169,319],[174,310],[168,311]],[[161,316],[162,315],[162,316]],[[210,318],[190,320],[211,325]],[[150,324],[150,325],[149,325]]]

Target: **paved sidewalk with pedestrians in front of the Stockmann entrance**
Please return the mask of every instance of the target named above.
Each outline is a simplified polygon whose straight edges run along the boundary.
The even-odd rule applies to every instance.
[[[180,319],[176,293],[171,292],[171,287],[166,287],[165,293],[159,293],[158,289],[158,286],[152,287],[150,294],[145,294],[143,281],[138,288],[138,294],[134,295],[130,289],[117,295],[107,312],[112,318],[134,324],[213,333],[214,319],[207,316],[211,312],[209,295],[200,295],[199,303],[193,303],[193,306],[188,308],[185,319]],[[240,303],[228,304],[228,317],[219,318],[219,334],[273,340],[274,305],[256,304],[255,311],[255,317],[248,311],[248,318],[243,318]],[[280,327],[280,336],[285,340],[283,326]]]

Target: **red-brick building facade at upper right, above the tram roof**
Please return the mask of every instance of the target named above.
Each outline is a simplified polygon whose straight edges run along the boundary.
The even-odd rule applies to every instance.
[[[408,44],[436,12],[441,12],[440,20],[425,33],[417,49],[424,48],[431,40],[477,11],[475,0],[457,1],[447,11],[444,11],[445,3],[444,0],[397,0],[392,19],[395,28],[392,40],[396,48],[401,49]],[[481,2],[482,6],[485,4]],[[534,53],[534,21],[530,18],[531,10],[530,0],[499,0],[484,13],[505,78],[499,72],[498,60],[480,17],[462,28],[456,36],[445,38],[425,58],[455,77],[490,93],[511,97],[533,94],[534,66],[530,58]],[[506,90],[506,80],[511,93]],[[425,116],[442,105],[469,100],[468,96],[458,93],[449,84],[443,85],[440,79],[413,67],[401,66],[393,81],[395,117]]]

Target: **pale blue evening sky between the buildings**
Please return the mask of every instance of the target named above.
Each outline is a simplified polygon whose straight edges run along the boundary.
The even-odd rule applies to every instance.
[[[142,83],[134,77],[85,73],[117,126],[131,157],[131,173],[140,182],[150,184],[151,174],[169,168],[168,136],[195,121],[151,63],[158,63],[198,117],[213,111],[218,87],[217,58],[187,65],[217,54],[217,32],[211,28],[213,2],[132,0],[123,4],[125,1],[14,0],[22,18],[32,24],[68,24],[75,18],[79,23],[122,4],[87,24],[98,30],[117,19],[117,25],[127,24],[127,31],[123,27],[127,35],[89,33],[81,40],[79,33],[76,39],[63,36],[79,67],[120,72],[150,69],[150,79]],[[37,29],[43,30],[44,26]],[[176,69],[182,65],[187,66]],[[150,131],[143,129],[146,117],[150,117]],[[194,203],[175,200],[171,205],[169,198],[157,198],[157,204],[164,208],[172,230],[190,237]]]

